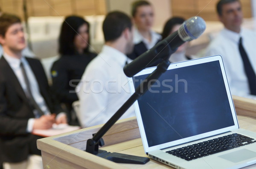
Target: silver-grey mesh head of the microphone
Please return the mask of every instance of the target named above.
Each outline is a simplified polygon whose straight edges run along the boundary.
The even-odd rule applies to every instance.
[[[178,34],[183,41],[197,39],[205,30],[203,18],[195,16],[186,20],[179,28]]]

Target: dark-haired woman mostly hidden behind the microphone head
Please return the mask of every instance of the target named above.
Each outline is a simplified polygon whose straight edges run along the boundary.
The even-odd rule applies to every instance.
[[[162,33],[163,39],[168,37],[173,32],[177,31],[184,21],[185,20],[182,17],[172,17],[169,20],[167,20],[163,28],[163,33]],[[186,55],[187,47],[188,47],[188,42],[183,43],[180,47],[178,47],[177,51],[171,55],[171,57],[169,58],[169,61],[171,63],[175,63],[175,62],[181,62],[184,60],[191,60],[192,59],[191,56]]]

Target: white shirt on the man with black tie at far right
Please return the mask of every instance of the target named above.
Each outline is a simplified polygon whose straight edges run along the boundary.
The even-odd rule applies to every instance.
[[[255,95],[250,95],[243,60],[239,52],[240,37],[243,39],[244,49],[256,72],[256,32],[247,29],[241,29],[240,33],[223,29],[210,43],[206,56],[217,54],[222,56],[232,95],[256,99]]]

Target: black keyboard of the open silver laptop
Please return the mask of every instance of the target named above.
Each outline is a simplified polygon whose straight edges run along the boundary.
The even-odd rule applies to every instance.
[[[190,161],[255,142],[256,140],[253,138],[234,133],[201,143],[192,144],[190,146],[173,149],[171,151],[167,151],[167,153]]]

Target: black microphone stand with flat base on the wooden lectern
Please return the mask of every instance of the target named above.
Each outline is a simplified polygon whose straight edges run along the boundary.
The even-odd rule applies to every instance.
[[[149,161],[149,158],[138,157],[133,155],[124,155],[120,153],[110,153],[104,150],[99,150],[99,146],[103,146],[103,135],[113,126],[114,123],[132,106],[132,104],[141,97],[150,87],[154,84],[154,82],[166,72],[170,62],[169,56],[166,57],[161,63],[158,64],[157,69],[154,70],[148,77],[143,80],[140,86],[137,87],[134,94],[122,105],[122,107],[102,126],[99,131],[93,135],[93,137],[87,140],[86,152],[89,152],[93,155],[97,155],[102,158],[106,158],[108,160],[114,161],[116,163],[136,163],[136,164],[145,164]],[[149,83],[151,82],[151,83]],[[153,83],[152,83],[153,82]]]

